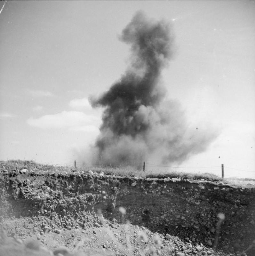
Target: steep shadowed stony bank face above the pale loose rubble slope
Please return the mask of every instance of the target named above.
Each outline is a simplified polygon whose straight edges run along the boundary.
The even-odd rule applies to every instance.
[[[110,227],[129,220],[152,232],[212,247],[218,233],[217,215],[224,213],[217,248],[228,253],[242,252],[255,238],[254,188],[205,180],[123,178],[82,171],[6,171],[1,175],[1,191],[2,219],[41,216],[42,220],[51,220],[51,229],[86,230],[99,220]],[[125,211],[120,212],[119,207]],[[42,222],[41,228],[45,225]]]

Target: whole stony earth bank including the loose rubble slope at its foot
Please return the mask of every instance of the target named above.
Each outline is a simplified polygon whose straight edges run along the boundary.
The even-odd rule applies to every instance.
[[[157,247],[153,237],[158,234],[163,244],[156,254],[227,255],[244,251],[255,239],[254,188],[206,180],[28,169],[2,169],[0,186],[0,216],[7,236],[24,241],[35,238],[51,250],[62,244],[70,250],[75,245],[76,249],[103,249],[112,255],[143,255],[148,244]],[[219,220],[219,213],[224,214],[224,220]],[[127,221],[131,224],[125,225]],[[125,233],[128,228],[132,233],[129,236]],[[147,232],[147,242],[139,239],[140,231]],[[122,233],[120,242],[116,237],[122,237]],[[113,244],[100,240],[98,234],[104,234],[102,237]],[[52,239],[61,235],[65,236],[61,243],[52,244]],[[77,246],[81,240],[83,246]],[[214,244],[216,251],[212,250]],[[255,255],[254,249],[247,255]]]

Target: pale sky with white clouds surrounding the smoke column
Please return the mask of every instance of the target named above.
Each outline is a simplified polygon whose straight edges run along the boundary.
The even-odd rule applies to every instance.
[[[174,168],[153,159],[146,168],[221,175],[224,164],[225,177],[255,178],[255,1],[1,1],[0,10],[0,160],[90,164],[103,108],[88,98],[124,74],[130,47],[119,37],[141,10],[172,24],[166,97],[198,131],[217,131]]]

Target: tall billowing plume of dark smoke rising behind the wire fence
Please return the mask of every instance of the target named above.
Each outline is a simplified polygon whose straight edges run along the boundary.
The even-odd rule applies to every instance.
[[[130,66],[107,92],[90,99],[93,107],[105,108],[94,163],[141,164],[148,157],[181,163],[204,151],[214,133],[191,132],[179,103],[165,100],[160,75],[174,52],[170,24],[137,12],[120,39],[131,45]]]

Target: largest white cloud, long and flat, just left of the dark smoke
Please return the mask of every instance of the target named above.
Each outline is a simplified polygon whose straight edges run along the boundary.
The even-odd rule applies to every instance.
[[[34,127],[43,129],[70,128],[72,130],[84,130],[87,126],[99,126],[100,118],[93,115],[86,115],[80,111],[62,111],[54,115],[45,115],[39,118],[30,117],[27,123]],[[91,129],[91,128],[87,128]]]

